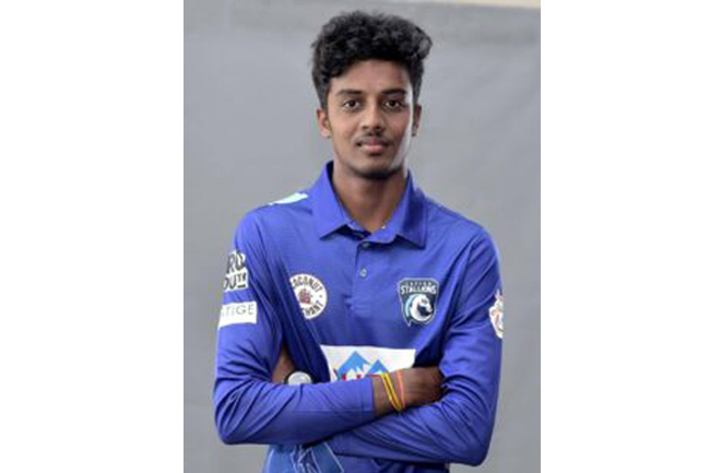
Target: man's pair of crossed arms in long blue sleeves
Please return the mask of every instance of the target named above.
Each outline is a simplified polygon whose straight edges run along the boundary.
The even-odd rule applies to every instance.
[[[238,234],[236,248],[246,261],[268,260],[257,230],[250,232],[249,238]],[[327,440],[340,454],[480,464],[493,431],[501,352],[501,340],[488,320],[499,292],[489,240],[472,251],[469,267],[462,283],[468,292],[447,327],[443,356],[438,367],[402,371],[407,409],[398,414],[378,377],[310,386],[273,382],[274,370],[283,368],[279,358],[285,329],[275,312],[276,285],[269,283],[268,269],[250,267],[249,287],[225,295],[224,303],[256,301],[258,319],[222,327],[217,336],[214,412],[223,441]],[[276,379],[283,380],[283,375]]]

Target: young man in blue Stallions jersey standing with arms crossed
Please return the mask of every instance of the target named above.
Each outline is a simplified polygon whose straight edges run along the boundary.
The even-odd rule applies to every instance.
[[[490,237],[406,169],[430,38],[346,13],[313,43],[333,161],[248,213],[227,264],[214,407],[267,472],[440,472],[493,431],[502,295]]]

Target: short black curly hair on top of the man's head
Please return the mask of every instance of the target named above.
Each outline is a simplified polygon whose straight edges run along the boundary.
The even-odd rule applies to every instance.
[[[345,73],[355,62],[367,59],[402,64],[410,75],[416,104],[431,38],[400,16],[354,11],[330,19],[311,47],[311,74],[323,109],[327,108],[330,80]]]

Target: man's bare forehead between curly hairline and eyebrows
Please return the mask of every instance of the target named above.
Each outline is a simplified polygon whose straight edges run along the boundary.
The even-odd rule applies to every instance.
[[[345,73],[331,79],[331,94],[336,94],[344,88],[365,93],[378,93],[391,88],[403,88],[410,92],[412,84],[404,66],[392,61],[368,59],[354,63]]]

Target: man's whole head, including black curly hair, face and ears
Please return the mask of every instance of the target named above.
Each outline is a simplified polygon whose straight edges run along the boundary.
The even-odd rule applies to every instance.
[[[398,16],[353,12],[331,19],[312,48],[318,125],[338,165],[368,179],[402,169],[419,123],[429,36]]]

